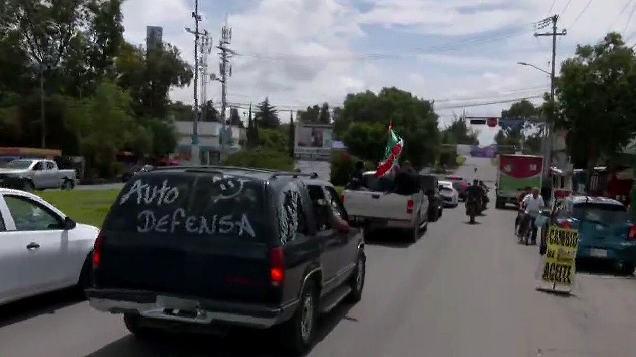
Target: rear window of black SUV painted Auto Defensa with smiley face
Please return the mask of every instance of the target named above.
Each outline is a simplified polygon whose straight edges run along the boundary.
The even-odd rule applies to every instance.
[[[235,237],[265,242],[262,180],[175,172],[128,183],[109,213],[108,231],[143,235]]]

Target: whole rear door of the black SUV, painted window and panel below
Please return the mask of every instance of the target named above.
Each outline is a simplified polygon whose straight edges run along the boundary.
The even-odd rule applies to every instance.
[[[227,191],[232,186],[238,192]],[[100,232],[95,287],[275,301],[269,263],[275,233],[265,196],[258,180],[194,172],[139,176],[122,190]]]

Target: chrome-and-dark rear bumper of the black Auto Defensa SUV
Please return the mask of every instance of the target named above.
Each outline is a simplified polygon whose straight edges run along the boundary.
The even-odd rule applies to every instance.
[[[293,315],[298,300],[282,306],[248,304],[209,299],[189,299],[198,302],[193,314],[175,315],[160,306],[156,292],[124,289],[87,289],[90,306],[105,313],[133,313],[146,318],[156,318],[184,323],[224,324],[252,328],[269,328]]]

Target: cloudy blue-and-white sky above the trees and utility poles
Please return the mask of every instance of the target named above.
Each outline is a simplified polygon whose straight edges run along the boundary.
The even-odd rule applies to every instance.
[[[146,25],[162,26],[163,39],[193,63],[195,0],[127,0],[124,37],[144,44]],[[435,100],[440,127],[466,110],[499,116],[509,103],[541,103],[550,91],[551,37],[534,37],[537,22],[559,15],[556,73],[577,44],[600,41],[609,31],[636,42],[634,0],[201,0],[200,26],[216,44],[232,27],[233,73],[228,102],[244,107],[265,97],[289,120],[289,111],[327,101],[342,105],[347,93],[396,86]],[[218,69],[215,52],[209,72]],[[220,102],[219,82],[207,96]],[[172,100],[193,103],[193,88],[176,88]],[[242,111],[242,109],[240,109]],[[474,127],[480,143],[496,128]]]

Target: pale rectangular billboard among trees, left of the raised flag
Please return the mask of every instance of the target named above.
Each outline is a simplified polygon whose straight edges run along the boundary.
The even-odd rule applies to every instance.
[[[298,123],[294,132],[294,157],[296,159],[329,160],[331,133],[329,124]]]

